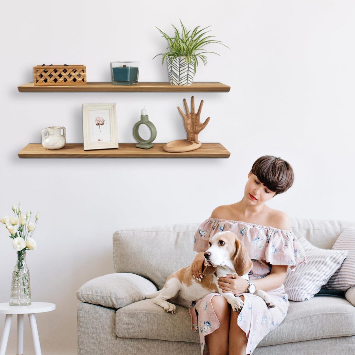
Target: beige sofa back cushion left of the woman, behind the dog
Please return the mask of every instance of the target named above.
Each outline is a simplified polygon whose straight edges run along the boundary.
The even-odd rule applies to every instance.
[[[193,236],[197,227],[197,223],[175,224],[115,232],[115,271],[141,275],[163,288],[169,275],[195,258]]]

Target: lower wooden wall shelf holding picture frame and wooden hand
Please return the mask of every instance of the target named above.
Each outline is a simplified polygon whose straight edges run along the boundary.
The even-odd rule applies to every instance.
[[[67,143],[64,148],[47,150],[40,143],[30,143],[18,153],[20,158],[229,158],[230,152],[220,143],[202,143],[191,152],[169,153],[165,143],[154,143],[150,149],[136,148],[136,143],[119,143],[116,149],[84,151],[82,143]]]

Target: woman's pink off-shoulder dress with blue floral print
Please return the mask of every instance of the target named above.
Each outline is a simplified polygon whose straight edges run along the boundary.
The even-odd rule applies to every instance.
[[[231,231],[245,245],[253,262],[249,272],[249,279],[260,279],[271,271],[271,265],[289,265],[295,268],[305,261],[304,250],[290,230],[282,230],[252,223],[232,220],[208,218],[195,234],[194,250],[197,252],[208,249],[208,240],[215,233]],[[268,291],[274,298],[276,306],[268,308],[258,296],[243,293],[244,306],[238,316],[238,325],[248,338],[246,354],[251,354],[267,333],[275,329],[285,318],[289,301],[284,286]],[[218,295],[212,293],[192,302],[189,307],[192,330],[200,333],[201,353],[208,354],[205,347],[205,335],[212,333],[220,327],[214,313],[211,299]]]

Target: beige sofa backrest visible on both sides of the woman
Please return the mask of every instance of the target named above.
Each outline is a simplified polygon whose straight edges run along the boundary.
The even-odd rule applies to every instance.
[[[173,272],[191,264],[196,253],[193,236],[199,223],[130,228],[113,235],[116,272],[130,272],[151,280],[160,289]],[[353,222],[291,218],[291,230],[318,248],[331,249]]]

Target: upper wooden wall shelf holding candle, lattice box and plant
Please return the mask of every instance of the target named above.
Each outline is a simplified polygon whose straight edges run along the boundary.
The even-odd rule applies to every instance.
[[[138,83],[114,85],[112,83],[87,83],[86,85],[34,86],[33,83],[17,87],[20,92],[229,92],[230,86],[222,83],[192,83],[191,86],[170,83]]]

